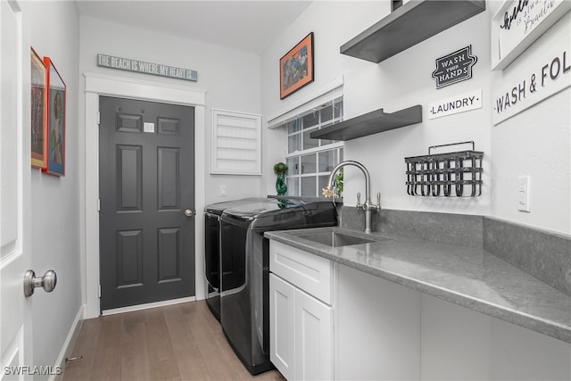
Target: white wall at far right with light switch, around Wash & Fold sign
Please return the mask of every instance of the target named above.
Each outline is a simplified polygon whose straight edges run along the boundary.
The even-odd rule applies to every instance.
[[[493,5],[497,5],[493,3]],[[550,48],[549,46],[555,46]],[[562,46],[559,50],[559,46]],[[497,90],[529,83],[537,72],[567,46],[571,54],[571,12],[567,12],[517,60],[503,71],[494,71]],[[562,58],[561,58],[562,60]],[[567,79],[563,78],[567,76]],[[571,82],[571,71],[557,80]],[[514,82],[514,79],[516,79]],[[550,79],[548,79],[550,80]],[[538,79],[538,84],[541,79]],[[528,85],[529,87],[529,85]],[[544,91],[538,85],[537,93]],[[528,89],[529,90],[529,89]],[[536,95],[537,96],[537,95]],[[528,97],[532,95],[528,93]],[[571,89],[535,104],[492,129],[492,214],[501,219],[571,233]],[[529,176],[529,213],[517,211],[517,177]]]

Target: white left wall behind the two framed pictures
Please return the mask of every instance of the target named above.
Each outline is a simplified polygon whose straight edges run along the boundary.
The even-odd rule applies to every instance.
[[[40,56],[49,56],[67,86],[66,174],[31,170],[32,266],[54,269],[54,292],[38,290],[33,305],[34,364],[53,366],[81,308],[79,278],[79,14],[73,2],[21,2],[24,29]]]

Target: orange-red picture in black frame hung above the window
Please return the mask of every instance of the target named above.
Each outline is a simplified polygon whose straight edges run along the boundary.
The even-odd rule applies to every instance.
[[[279,60],[279,99],[313,82],[313,32]]]

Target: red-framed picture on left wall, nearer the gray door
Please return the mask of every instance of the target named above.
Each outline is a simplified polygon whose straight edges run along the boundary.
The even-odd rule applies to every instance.
[[[62,76],[50,57],[44,57],[47,74],[47,167],[45,172],[65,176],[65,104]]]

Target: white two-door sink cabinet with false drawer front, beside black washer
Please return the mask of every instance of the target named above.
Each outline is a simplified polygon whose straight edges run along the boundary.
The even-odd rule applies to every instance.
[[[288,380],[333,379],[330,261],[270,242],[269,358]],[[319,294],[319,300],[315,294]]]

